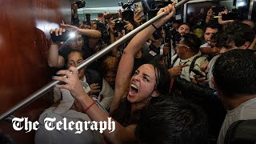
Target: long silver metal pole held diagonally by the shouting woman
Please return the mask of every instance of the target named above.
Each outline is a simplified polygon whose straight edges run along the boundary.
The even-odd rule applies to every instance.
[[[182,0],[181,2],[178,2],[175,7],[178,8],[188,1],[189,0]],[[142,24],[142,26],[138,26],[136,29],[132,30],[130,33],[128,33],[125,36],[123,36],[122,38],[118,39],[118,41],[110,44],[110,46],[107,46],[106,48],[98,51],[98,53],[90,56],[90,58],[87,58],[86,60],[84,60],[82,63],[80,63],[77,66],[77,69],[81,70],[82,68],[85,68],[86,66],[90,65],[90,63],[94,62],[98,58],[101,58],[103,55],[110,52],[110,50],[112,50],[114,47],[117,47],[117,46],[121,45],[123,42],[126,42],[130,38],[134,37],[135,34],[138,34],[140,31],[144,30],[147,26],[150,26],[152,23],[158,21],[160,18],[162,18],[165,15],[166,15],[166,13],[163,12],[162,14],[159,14],[159,15],[155,16],[154,18],[151,18],[149,21]],[[66,76],[64,76],[64,77],[66,77]],[[34,102],[36,99],[41,98],[43,94],[46,94],[48,91],[53,89],[54,85],[56,85],[58,83],[59,83],[59,81],[54,80],[54,81],[48,83],[46,86],[43,86],[41,89],[34,92],[34,94],[31,94],[29,97],[22,100],[22,102],[19,102],[16,106],[12,107],[10,110],[7,110],[4,114],[1,115],[0,120],[4,120],[4,119],[8,118],[11,114],[14,114],[14,112],[16,112],[17,110],[22,109],[23,107],[29,105],[31,102]]]

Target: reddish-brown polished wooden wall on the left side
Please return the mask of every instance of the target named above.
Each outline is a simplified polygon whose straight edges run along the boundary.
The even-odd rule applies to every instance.
[[[49,30],[70,23],[70,0],[0,1],[0,114],[51,81],[47,65]],[[18,110],[16,117],[37,120],[50,106],[50,93]],[[11,122],[0,122],[0,131],[17,143],[34,143],[34,133],[15,131]]]

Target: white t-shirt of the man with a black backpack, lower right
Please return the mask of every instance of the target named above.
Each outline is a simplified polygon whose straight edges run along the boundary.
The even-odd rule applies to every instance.
[[[247,120],[256,118],[256,98],[243,102],[234,110],[227,110],[226,118],[218,134],[218,144],[224,144],[226,131],[230,125],[238,120]]]

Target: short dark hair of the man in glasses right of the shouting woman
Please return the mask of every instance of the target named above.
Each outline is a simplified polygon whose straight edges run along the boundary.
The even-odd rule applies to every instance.
[[[190,50],[192,50],[193,52],[199,52],[199,47],[201,46],[200,38],[198,38],[194,34],[184,34],[182,38],[183,38],[182,42],[186,46],[189,46]]]

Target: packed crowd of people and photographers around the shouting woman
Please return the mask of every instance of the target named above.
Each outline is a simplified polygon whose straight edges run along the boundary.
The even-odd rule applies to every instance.
[[[104,17],[79,23],[74,14],[76,26],[50,30],[56,37],[68,31],[75,36],[51,42],[48,64],[58,70],[53,79],[64,84],[54,87],[54,104],[39,118],[35,143],[221,144],[233,122],[256,119],[254,22],[224,21],[226,10],[209,20],[210,9],[202,34],[190,23],[174,21],[170,35],[164,24],[174,17],[174,5],[160,9],[158,14],[166,16],[82,70],[75,67],[142,25],[142,11],[134,11],[133,21],[119,14],[122,21]],[[69,122],[111,117],[116,129],[47,131],[47,117]]]

